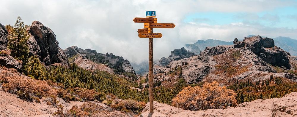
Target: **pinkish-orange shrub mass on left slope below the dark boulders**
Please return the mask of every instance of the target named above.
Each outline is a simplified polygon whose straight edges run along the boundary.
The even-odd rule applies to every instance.
[[[2,89],[12,94],[18,95],[24,100],[35,100],[37,98],[48,97],[56,100],[57,91],[52,89],[45,81],[35,80],[26,76],[20,76],[15,70],[2,68],[0,72],[0,82]],[[51,105],[55,104],[52,102]]]

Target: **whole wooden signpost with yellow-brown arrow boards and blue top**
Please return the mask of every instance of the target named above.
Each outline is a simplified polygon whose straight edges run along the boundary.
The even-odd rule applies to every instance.
[[[144,28],[138,29],[139,38],[149,38],[149,93],[150,93],[150,113],[154,113],[154,93],[153,93],[153,38],[161,38],[161,33],[153,33],[153,28],[174,28],[173,23],[157,23],[156,12],[147,11],[145,17],[135,17],[134,23],[144,23]]]

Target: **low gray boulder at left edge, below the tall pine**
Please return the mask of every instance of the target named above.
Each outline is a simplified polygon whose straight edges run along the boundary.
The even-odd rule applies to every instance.
[[[0,65],[5,66],[7,68],[15,68],[19,72],[21,72],[22,64],[15,60],[12,56],[4,56],[0,57]]]

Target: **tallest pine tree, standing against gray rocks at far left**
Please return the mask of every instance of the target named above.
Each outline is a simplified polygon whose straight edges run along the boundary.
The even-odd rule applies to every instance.
[[[24,22],[21,21],[21,17],[18,16],[15,25],[12,27],[11,34],[8,36],[7,48],[10,49],[11,56],[26,62],[29,56],[29,47],[27,45],[27,40],[29,35],[24,26]]]

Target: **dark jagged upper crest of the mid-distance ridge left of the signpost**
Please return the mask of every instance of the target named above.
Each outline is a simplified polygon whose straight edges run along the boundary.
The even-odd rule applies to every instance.
[[[80,49],[76,46],[68,47],[64,51],[68,57],[73,57],[74,55],[84,55],[85,57],[86,56],[97,56],[97,57],[100,57],[100,60],[95,59],[94,61],[96,61],[96,62],[102,63],[103,61],[104,62],[108,61],[109,63],[112,64],[111,68],[115,68],[115,67],[118,67],[117,65],[120,65],[126,72],[135,73],[132,65],[130,64],[130,62],[128,60],[124,60],[123,57],[115,56],[112,53],[101,54],[101,53],[97,53],[96,50]],[[88,65],[84,65],[84,64],[80,64],[80,65],[88,66]]]

